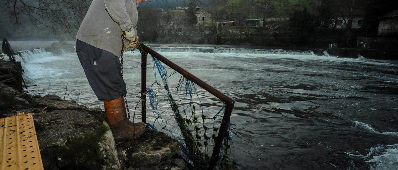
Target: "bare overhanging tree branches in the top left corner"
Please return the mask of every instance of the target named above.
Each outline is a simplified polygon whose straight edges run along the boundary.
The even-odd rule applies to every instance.
[[[73,34],[86,15],[91,0],[3,0],[2,13],[20,23],[26,16],[36,27]]]

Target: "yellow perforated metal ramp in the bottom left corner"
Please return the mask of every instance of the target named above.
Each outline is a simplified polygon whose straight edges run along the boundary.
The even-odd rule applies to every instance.
[[[0,119],[0,170],[42,170],[32,114]]]

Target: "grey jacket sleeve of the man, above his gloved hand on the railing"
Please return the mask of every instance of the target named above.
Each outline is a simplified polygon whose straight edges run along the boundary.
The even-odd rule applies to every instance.
[[[119,24],[123,32],[133,28],[133,23],[127,14],[125,0],[105,0],[105,10],[113,21]]]

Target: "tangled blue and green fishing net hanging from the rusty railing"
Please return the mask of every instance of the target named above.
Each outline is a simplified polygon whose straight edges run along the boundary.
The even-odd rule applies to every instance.
[[[182,143],[179,155],[195,169],[207,168],[224,116],[225,103],[214,102],[219,99],[201,87],[197,88],[192,81],[165,67],[158,59],[151,58],[152,64],[149,65],[152,65],[154,77],[148,77],[148,81],[154,82],[148,85],[146,96],[150,105],[147,118],[153,117],[147,120],[148,126]],[[228,122],[216,169],[233,166],[232,137]]]

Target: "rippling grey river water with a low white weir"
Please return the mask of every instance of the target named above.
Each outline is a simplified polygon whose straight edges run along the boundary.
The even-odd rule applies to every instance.
[[[398,169],[397,61],[215,46],[154,49],[236,100],[231,132],[240,169]],[[30,94],[102,107],[86,89],[75,53],[33,50],[19,60],[38,85]],[[140,91],[140,60],[139,52],[125,54],[130,106]],[[151,64],[148,57],[147,84]]]

